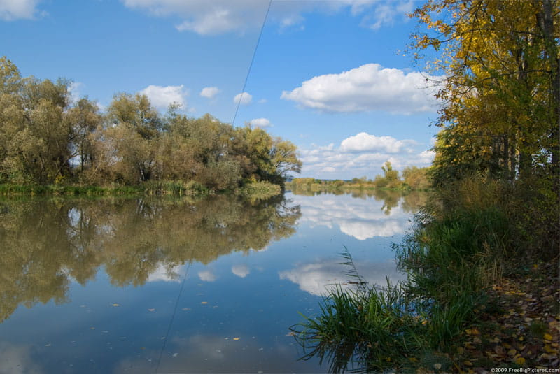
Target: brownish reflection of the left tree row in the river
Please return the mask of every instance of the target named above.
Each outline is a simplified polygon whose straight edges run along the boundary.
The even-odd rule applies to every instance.
[[[186,263],[209,264],[232,251],[263,250],[272,240],[288,238],[300,215],[300,207],[284,199],[248,203],[226,196],[203,201],[4,201],[0,322],[18,305],[66,302],[71,282],[85,285],[100,267],[120,287],[180,280]],[[232,271],[248,274],[242,267]],[[208,269],[198,275],[216,279]]]

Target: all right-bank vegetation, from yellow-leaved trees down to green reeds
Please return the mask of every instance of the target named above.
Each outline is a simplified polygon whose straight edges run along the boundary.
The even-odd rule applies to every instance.
[[[559,367],[560,2],[432,0],[412,50],[443,73],[407,280],[334,289],[293,326],[334,372]],[[349,252],[344,254],[351,266]]]

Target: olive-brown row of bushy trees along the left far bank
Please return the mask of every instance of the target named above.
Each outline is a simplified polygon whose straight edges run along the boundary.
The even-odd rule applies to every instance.
[[[71,81],[23,78],[0,58],[0,183],[139,185],[172,180],[211,190],[250,182],[283,184],[302,162],[293,143],[265,130],[232,127],[147,96],[119,93],[102,113],[71,100]]]

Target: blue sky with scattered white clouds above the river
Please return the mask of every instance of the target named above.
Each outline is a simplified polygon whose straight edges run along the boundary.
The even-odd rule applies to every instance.
[[[297,145],[299,177],[428,166],[438,102],[411,0],[0,0],[0,55],[100,108],[146,94]]]

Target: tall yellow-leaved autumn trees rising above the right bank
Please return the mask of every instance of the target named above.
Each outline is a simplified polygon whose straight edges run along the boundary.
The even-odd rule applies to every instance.
[[[436,183],[463,175],[462,166],[443,173],[448,161],[510,182],[558,175],[559,8],[555,0],[430,0],[414,12],[427,29],[412,47],[439,52],[432,66],[444,72]]]

